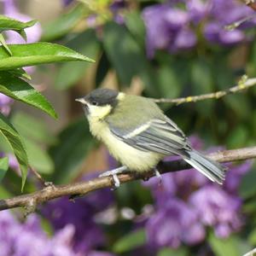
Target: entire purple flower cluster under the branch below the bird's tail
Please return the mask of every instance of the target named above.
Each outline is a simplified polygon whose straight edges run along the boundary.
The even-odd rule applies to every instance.
[[[152,189],[155,202],[155,212],[146,224],[149,244],[154,248],[194,245],[206,239],[207,227],[218,237],[239,230],[242,216],[237,189],[251,164],[229,165],[224,186],[195,170],[166,173],[161,186],[156,179],[145,183]]]

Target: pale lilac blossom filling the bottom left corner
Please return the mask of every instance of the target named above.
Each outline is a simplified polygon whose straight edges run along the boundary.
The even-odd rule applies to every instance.
[[[21,224],[10,211],[0,212],[1,255],[15,256],[79,256],[73,252],[74,229],[67,225],[49,237],[42,230],[37,215],[30,215]]]

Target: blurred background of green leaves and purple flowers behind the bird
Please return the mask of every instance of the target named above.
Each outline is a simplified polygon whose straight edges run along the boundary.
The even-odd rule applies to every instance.
[[[1,100],[24,139],[32,168],[56,184],[95,177],[117,166],[90,135],[81,106],[90,90],[108,87],[176,98],[225,90],[256,75],[256,19],[238,0],[3,0],[4,15],[32,17],[28,42],[63,44],[96,60],[29,67],[32,83],[59,119]],[[9,44],[17,42],[7,34]],[[23,42],[24,43],[24,42]],[[22,43],[22,44],[23,44]],[[201,150],[255,145],[256,90],[219,100],[162,104]],[[1,139],[10,169],[1,198],[20,194],[17,163]],[[241,255],[256,244],[255,165],[230,164],[223,187],[191,171],[166,174],[161,186],[133,182],[78,199],[50,202],[25,221],[0,212],[2,255]],[[29,174],[26,193],[38,189]],[[24,253],[25,254],[22,254]],[[1,253],[0,253],[1,254]]]

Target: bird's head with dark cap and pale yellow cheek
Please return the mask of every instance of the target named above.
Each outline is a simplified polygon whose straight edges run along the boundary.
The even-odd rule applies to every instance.
[[[76,99],[76,101],[83,104],[86,116],[103,119],[118,104],[120,96],[121,93],[116,90],[96,89],[92,90],[87,96]]]

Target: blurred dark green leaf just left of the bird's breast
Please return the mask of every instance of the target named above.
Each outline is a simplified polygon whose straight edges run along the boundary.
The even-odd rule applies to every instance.
[[[68,183],[77,177],[86,154],[94,145],[85,117],[61,131],[59,143],[49,151],[55,162],[54,182]]]

